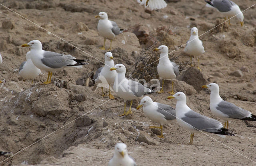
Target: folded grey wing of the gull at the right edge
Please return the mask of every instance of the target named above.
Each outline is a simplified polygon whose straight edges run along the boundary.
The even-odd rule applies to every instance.
[[[252,113],[250,111],[247,111],[245,109],[242,109],[233,103],[221,101],[216,109],[221,111],[222,113],[228,115],[230,118],[234,119],[243,119],[244,117],[250,117]]]

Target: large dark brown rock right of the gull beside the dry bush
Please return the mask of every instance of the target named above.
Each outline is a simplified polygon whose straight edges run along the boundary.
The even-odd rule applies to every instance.
[[[197,92],[202,90],[201,86],[206,84],[206,80],[203,77],[203,74],[196,67],[190,67],[179,80],[186,82],[187,84],[192,85]]]

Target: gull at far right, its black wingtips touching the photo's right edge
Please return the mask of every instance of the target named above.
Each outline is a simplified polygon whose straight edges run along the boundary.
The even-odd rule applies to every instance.
[[[228,129],[228,120],[230,119],[256,121],[256,115],[253,115],[250,113],[250,111],[242,109],[233,103],[222,100],[219,95],[218,84],[210,83],[208,85],[203,85],[202,88],[207,88],[211,91],[210,109],[214,115],[225,120],[224,128],[227,127]]]

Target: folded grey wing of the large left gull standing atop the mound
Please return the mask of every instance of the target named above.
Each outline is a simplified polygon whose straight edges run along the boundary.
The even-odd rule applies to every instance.
[[[71,55],[63,55],[59,53],[54,53],[51,51],[44,51],[43,58],[41,61],[44,65],[50,68],[61,68],[76,62],[73,61],[74,57],[71,58]]]

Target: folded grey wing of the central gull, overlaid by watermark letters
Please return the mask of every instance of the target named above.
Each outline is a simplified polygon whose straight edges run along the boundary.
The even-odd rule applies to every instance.
[[[146,88],[140,82],[136,82],[133,80],[129,80],[129,86],[128,88],[134,93],[135,96],[140,97],[147,93],[150,93],[151,90],[149,88]]]

